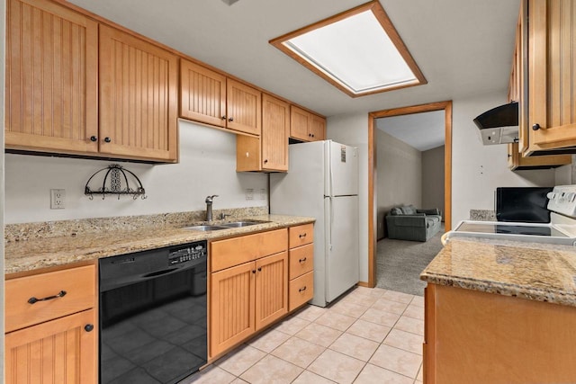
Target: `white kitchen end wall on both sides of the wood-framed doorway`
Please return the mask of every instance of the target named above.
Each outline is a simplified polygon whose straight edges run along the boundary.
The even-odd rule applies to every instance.
[[[484,94],[453,101],[453,225],[468,219],[470,210],[493,210],[497,187],[554,185],[554,170],[511,172],[506,146],[482,145],[473,118],[502,103],[506,103],[506,94]],[[329,117],[327,136],[359,149],[360,281],[368,281],[368,112]]]

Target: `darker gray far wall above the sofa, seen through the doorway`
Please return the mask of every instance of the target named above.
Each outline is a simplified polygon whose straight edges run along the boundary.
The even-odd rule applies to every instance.
[[[422,152],[422,208],[437,208],[444,219],[444,146]]]

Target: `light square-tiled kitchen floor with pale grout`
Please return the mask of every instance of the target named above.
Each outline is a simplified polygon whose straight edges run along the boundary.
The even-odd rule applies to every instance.
[[[181,384],[422,382],[424,299],[356,287],[306,306]]]

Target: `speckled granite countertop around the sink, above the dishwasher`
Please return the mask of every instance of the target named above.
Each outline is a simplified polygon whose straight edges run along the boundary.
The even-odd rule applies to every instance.
[[[282,215],[260,215],[244,219],[269,222],[208,232],[193,231],[181,227],[146,227],[130,230],[111,229],[97,233],[7,242],[4,246],[4,272],[6,274],[28,272],[162,246],[175,246],[197,240],[232,237],[263,230],[291,227],[311,223],[315,220],[308,217]],[[233,221],[240,220],[234,219]],[[195,223],[190,223],[190,225],[193,224]],[[218,224],[218,221],[214,221],[213,224]]]

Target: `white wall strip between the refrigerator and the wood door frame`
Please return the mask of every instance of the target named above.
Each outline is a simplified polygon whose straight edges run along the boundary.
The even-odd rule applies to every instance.
[[[327,137],[358,148],[360,281],[368,281],[368,113],[328,118]]]

